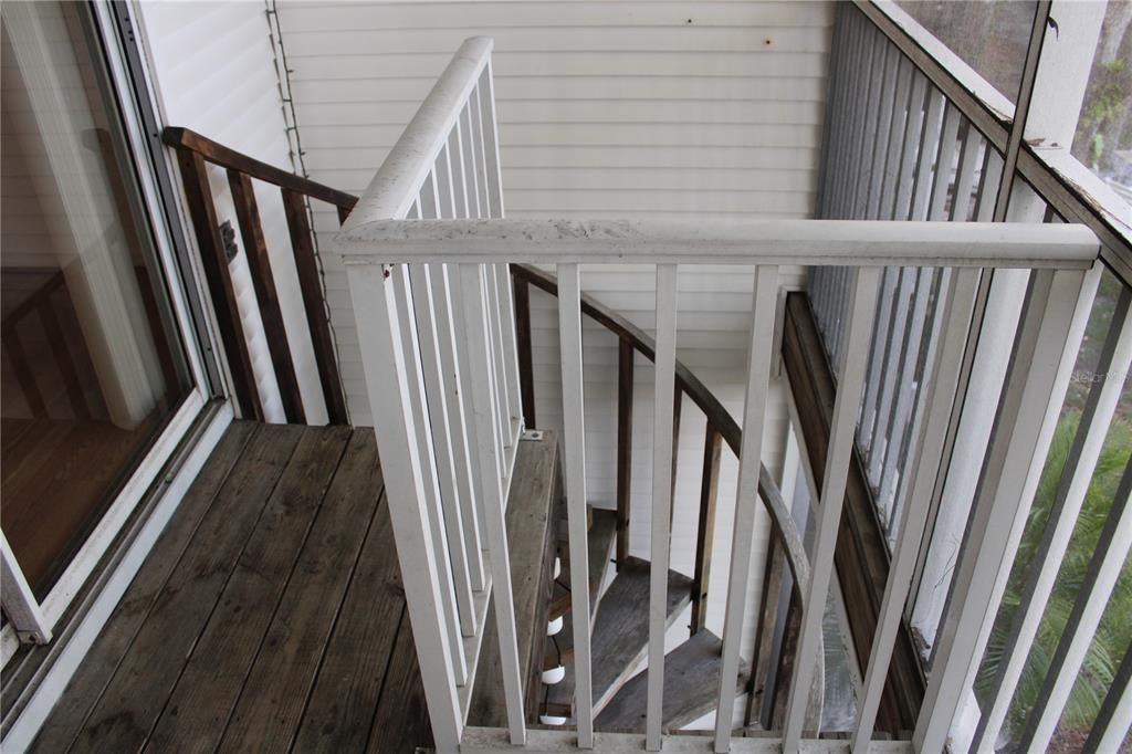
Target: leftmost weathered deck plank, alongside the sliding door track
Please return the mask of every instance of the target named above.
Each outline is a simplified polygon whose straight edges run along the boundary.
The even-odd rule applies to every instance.
[[[122,596],[122,601],[114,608],[106,627],[75,671],[32,745],[33,752],[65,752],[78,736],[92,705],[113,677],[165,580],[258,427],[252,422],[238,421],[224,434]]]

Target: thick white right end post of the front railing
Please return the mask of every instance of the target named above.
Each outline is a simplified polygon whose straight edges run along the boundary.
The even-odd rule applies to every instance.
[[[968,539],[955,568],[952,589],[963,599],[944,616],[936,637],[912,738],[918,751],[942,751],[946,745],[952,720],[983,659],[1098,277],[1099,269],[1041,269],[1031,275]]]

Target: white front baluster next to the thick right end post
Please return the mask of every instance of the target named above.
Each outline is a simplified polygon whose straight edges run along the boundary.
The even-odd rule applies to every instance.
[[[959,387],[967,331],[975,306],[975,294],[978,291],[978,281],[977,269],[955,271],[954,279],[949,285],[946,302],[943,305],[941,322],[946,331],[943,334],[938,358],[932,363],[934,374],[926,377],[927,414],[920,429],[920,452],[912,463],[911,496],[903,506],[903,522],[900,525],[900,537],[897,540],[897,549],[884,588],[868,670],[865,674],[864,692],[859,701],[857,728],[850,747],[861,754],[868,752],[871,746],[873,726],[881,706],[892,649],[895,645],[904,600],[908,598],[912,572],[916,568],[924,526],[932,508],[932,500],[940,491],[941,468],[949,428],[953,421],[958,421],[958,415],[953,412],[955,391]]]

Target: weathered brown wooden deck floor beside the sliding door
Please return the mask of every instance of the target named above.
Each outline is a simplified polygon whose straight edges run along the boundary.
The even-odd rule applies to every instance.
[[[372,431],[238,422],[33,751],[430,742]]]

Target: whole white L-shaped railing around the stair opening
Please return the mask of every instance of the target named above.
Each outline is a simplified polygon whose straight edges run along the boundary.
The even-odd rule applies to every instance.
[[[822,608],[833,574],[833,550],[846,479],[867,400],[874,361],[878,293],[890,274],[929,276],[936,303],[935,358],[920,376],[915,454],[893,541],[892,564],[859,697],[854,748],[865,751],[887,676],[927,517],[942,479],[970,384],[964,370],[980,281],[989,271],[1020,271],[1030,282],[1010,375],[986,452],[976,520],[957,577],[957,609],[937,637],[936,671],[916,738],[877,742],[874,751],[937,752],[950,727],[981,624],[971,610],[992,600],[1004,540],[1032,494],[1032,471],[1049,444],[1048,406],[1065,389],[1066,354],[1077,353],[1096,288],[1097,237],[1079,225],[947,224],[880,221],[509,221],[503,219],[490,66],[491,43],[469,40],[422,104],[404,136],[354,208],[334,246],[350,281],[366,384],[374,411],[386,496],[393,519],[437,749],[705,751],[703,738],[664,735],[661,709],[666,591],[671,507],[671,405],[675,391],[677,280],[680,268],[744,265],[754,271],[753,325],[746,368],[743,448],[732,523],[723,662],[718,709],[730,710],[747,609],[751,541],[771,375],[780,265],[837,266],[844,281],[838,324],[838,391],[817,506],[811,579],[803,585],[801,633],[784,729],[775,739],[735,738],[728,714],[717,716],[717,752],[796,752],[803,744],[807,691],[821,643]],[[917,217],[917,220],[920,220]],[[574,620],[576,730],[529,731],[518,662],[507,541],[504,529],[511,468],[521,427],[514,318],[506,265],[555,268],[564,395],[565,475],[571,581],[586,573],[586,480],[580,265],[633,263],[655,268],[657,353],[650,641],[646,731],[595,734],[588,620]],[[900,273],[903,275],[904,273]],[[978,320],[975,320],[976,325]],[[1124,358],[1126,343],[1117,349]],[[1123,349],[1123,350],[1122,350]],[[875,349],[874,349],[875,350]],[[1114,357],[1115,358],[1115,357]],[[875,368],[875,367],[873,367]],[[895,399],[899,400],[899,399]],[[1106,404],[1107,405],[1107,404]],[[1127,490],[1124,490],[1126,497]],[[1126,502],[1126,500],[1125,500]],[[1125,509],[1126,508],[1126,509]],[[1132,508],[1114,515],[1104,564],[1090,584],[1100,593],[1110,562],[1126,555]],[[1123,539],[1122,539],[1123,538]],[[487,555],[484,566],[481,555]],[[1118,572],[1118,566],[1117,566]],[[1110,588],[1110,585],[1109,585]],[[508,729],[465,730],[475,659],[489,597],[495,598]],[[572,592],[575,615],[589,615],[588,590]],[[816,606],[816,607],[813,607]],[[974,606],[974,607],[971,607]],[[798,692],[801,689],[801,692]]]

